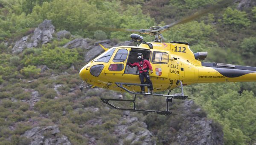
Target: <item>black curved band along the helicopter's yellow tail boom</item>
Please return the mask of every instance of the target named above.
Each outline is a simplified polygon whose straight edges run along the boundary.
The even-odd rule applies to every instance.
[[[256,67],[235,65],[235,67],[218,66],[216,63],[204,63],[202,66],[207,66],[215,69],[225,77],[240,77],[244,74],[256,73]]]

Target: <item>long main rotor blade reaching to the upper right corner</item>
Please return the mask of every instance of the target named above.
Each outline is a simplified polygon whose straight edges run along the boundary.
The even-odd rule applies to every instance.
[[[193,14],[189,17],[184,18],[183,20],[177,20],[174,23],[171,23],[169,25],[163,26],[161,28],[158,29],[159,32],[163,32],[168,30],[169,28],[172,28],[173,26],[176,26],[178,24],[183,24],[183,23],[188,23],[192,20],[195,20],[198,17],[202,17],[204,14],[209,13],[210,11],[215,11],[216,9],[220,9],[223,6],[226,6],[227,4],[233,2],[233,0],[222,0],[221,2],[219,2],[217,5],[209,7],[207,9],[204,9],[203,11]],[[155,30],[154,30],[155,31]]]

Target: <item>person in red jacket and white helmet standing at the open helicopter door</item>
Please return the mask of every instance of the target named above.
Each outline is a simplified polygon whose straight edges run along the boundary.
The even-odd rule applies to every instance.
[[[128,63],[128,65],[132,68],[137,66],[140,74],[140,83],[144,84],[144,78],[145,78],[147,84],[150,85],[149,86],[150,93],[153,94],[153,84],[150,80],[149,73],[148,73],[148,69],[150,70],[151,74],[153,73],[152,66],[148,60],[143,59],[142,53],[137,54],[137,59],[138,59],[138,62]],[[140,86],[140,89],[141,89],[141,93],[145,93],[145,86]]]

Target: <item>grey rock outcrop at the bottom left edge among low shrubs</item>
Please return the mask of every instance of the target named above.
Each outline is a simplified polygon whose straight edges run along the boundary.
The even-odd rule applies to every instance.
[[[26,131],[22,136],[30,139],[29,145],[71,145],[67,136],[58,137],[60,133],[57,125],[48,126],[46,128],[34,127]]]

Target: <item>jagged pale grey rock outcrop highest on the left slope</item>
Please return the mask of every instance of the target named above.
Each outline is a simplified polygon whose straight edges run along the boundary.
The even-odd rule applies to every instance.
[[[15,43],[12,53],[19,53],[24,48],[38,47],[38,45],[49,43],[52,40],[54,29],[55,27],[52,25],[51,20],[44,20],[38,28],[35,28],[34,34],[31,37],[24,36]]]

